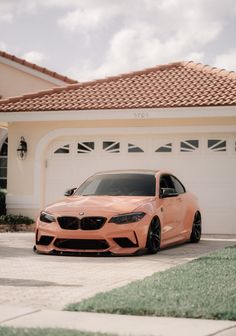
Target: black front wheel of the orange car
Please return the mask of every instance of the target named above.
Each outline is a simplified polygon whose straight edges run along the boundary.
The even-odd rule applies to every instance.
[[[149,226],[146,248],[149,254],[155,254],[160,250],[161,225],[158,218],[153,218]]]

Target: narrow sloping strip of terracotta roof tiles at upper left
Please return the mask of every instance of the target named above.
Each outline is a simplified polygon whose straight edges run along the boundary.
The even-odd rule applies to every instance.
[[[68,78],[66,76],[63,76],[63,75],[60,75],[58,74],[57,72],[53,72],[51,70],[48,70],[46,68],[43,68],[37,64],[33,64],[33,63],[30,63],[22,58],[19,58],[19,57],[16,57],[14,55],[10,55],[8,53],[6,53],[5,51],[0,51],[0,56],[1,57],[4,57],[10,61],[13,61],[13,62],[16,62],[20,65],[24,65],[26,66],[27,68],[31,68],[35,71],[39,71],[45,75],[48,75],[50,77],[53,77],[53,78],[56,78],[56,79],[59,79],[63,82],[65,82],[65,84],[75,84],[75,83],[78,83],[78,81],[74,80],[74,79],[71,79],[71,78]]]

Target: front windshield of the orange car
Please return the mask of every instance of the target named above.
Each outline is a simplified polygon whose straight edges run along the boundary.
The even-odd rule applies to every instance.
[[[151,174],[104,174],[85,181],[75,195],[155,196],[156,178]]]

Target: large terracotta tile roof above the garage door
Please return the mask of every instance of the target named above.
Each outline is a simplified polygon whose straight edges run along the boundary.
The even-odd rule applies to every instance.
[[[0,111],[236,105],[236,73],[178,62],[10,98]]]

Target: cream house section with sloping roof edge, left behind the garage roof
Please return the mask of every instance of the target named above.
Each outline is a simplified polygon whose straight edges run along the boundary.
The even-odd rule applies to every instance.
[[[0,99],[77,83],[68,77],[0,51]],[[7,185],[7,127],[0,122],[0,187]]]

